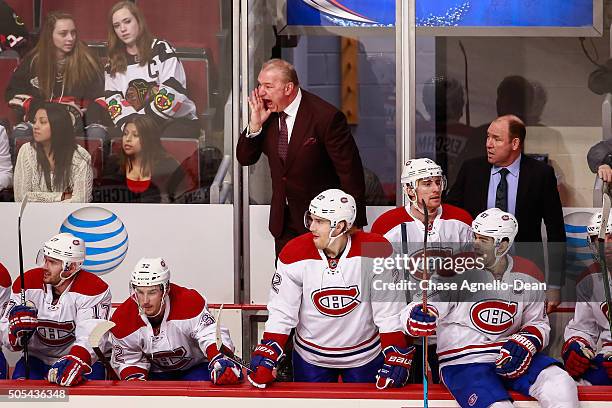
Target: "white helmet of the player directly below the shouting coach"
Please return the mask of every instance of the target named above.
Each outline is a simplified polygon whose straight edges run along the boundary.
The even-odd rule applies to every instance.
[[[310,228],[310,214],[329,220],[332,229],[336,228],[340,221],[345,221],[348,230],[357,217],[357,205],[352,195],[332,188],[323,191],[310,202],[304,215],[304,225],[307,229]]]

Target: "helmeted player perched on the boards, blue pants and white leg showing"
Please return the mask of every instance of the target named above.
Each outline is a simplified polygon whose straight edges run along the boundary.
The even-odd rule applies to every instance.
[[[407,333],[437,333],[441,377],[461,407],[513,407],[508,389],[543,408],[578,407],[575,382],[541,352],[550,333],[543,274],[533,262],[507,254],[516,219],[491,208],[472,230],[485,268],[458,274],[456,281],[484,288],[451,290],[445,300],[428,303],[427,312],[422,303],[410,303],[401,316]]]

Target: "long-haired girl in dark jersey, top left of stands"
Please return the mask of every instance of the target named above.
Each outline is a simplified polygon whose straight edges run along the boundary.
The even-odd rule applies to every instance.
[[[41,102],[50,101],[66,107],[77,136],[84,134],[86,125],[92,125],[88,135],[104,137],[102,124],[110,121],[103,96],[102,66],[78,39],[74,19],[68,13],[49,13],[36,47],[21,61],[6,89],[6,101],[24,120],[13,135],[31,137],[31,114]]]

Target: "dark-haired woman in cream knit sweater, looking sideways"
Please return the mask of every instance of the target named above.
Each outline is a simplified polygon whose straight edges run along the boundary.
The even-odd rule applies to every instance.
[[[45,103],[34,115],[34,140],[21,146],[15,164],[15,201],[91,201],[91,156],[75,141],[68,111]]]

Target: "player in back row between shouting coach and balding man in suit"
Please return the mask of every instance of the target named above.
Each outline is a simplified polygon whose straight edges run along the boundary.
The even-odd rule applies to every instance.
[[[430,242],[429,255],[451,257],[453,253],[465,251],[463,243],[472,240],[472,216],[465,210],[450,204],[442,204],[442,194],[446,188],[446,177],[436,162],[421,158],[408,160],[402,169],[402,190],[408,204],[397,207],[382,214],[372,225],[372,232],[383,235],[395,248],[411,259],[419,259],[423,247],[425,233],[425,215],[422,202],[425,201],[429,213],[427,226],[427,241]],[[430,273],[438,271],[430,270]],[[418,283],[422,270],[405,271],[404,278]],[[436,279],[437,277],[434,277]],[[412,291],[411,300],[420,297],[420,291]],[[422,362],[422,345],[417,340],[415,364],[420,367]],[[435,339],[429,340],[428,360],[432,370],[432,380],[439,382],[438,361]],[[420,383],[422,372],[413,373],[412,381]]]

